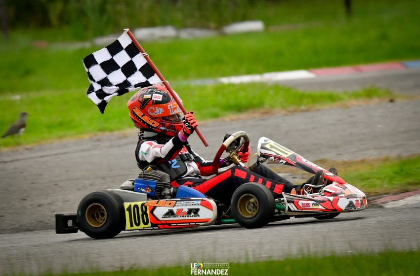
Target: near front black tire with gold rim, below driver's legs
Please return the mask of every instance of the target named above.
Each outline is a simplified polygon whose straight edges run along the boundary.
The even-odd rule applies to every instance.
[[[255,203],[257,207],[255,207]],[[259,228],[273,218],[275,201],[270,190],[264,185],[246,183],[233,193],[231,200],[233,217],[245,228]]]

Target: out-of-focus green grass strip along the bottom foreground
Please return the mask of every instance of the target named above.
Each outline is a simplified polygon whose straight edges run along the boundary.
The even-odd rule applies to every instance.
[[[282,275],[282,276],[415,276],[419,275],[420,251],[387,251],[381,253],[358,253],[318,257],[288,258],[281,261],[229,263],[230,276]],[[203,262],[203,260],[197,260]],[[131,269],[115,272],[89,272],[80,274],[56,274],[57,276],[172,276],[191,275],[190,264],[157,269]],[[42,276],[50,276],[44,274]]]

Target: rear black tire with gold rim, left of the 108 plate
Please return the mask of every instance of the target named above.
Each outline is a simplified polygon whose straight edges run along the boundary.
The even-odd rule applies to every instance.
[[[125,229],[124,201],[114,192],[98,191],[85,196],[77,208],[80,229],[93,239],[109,239]]]

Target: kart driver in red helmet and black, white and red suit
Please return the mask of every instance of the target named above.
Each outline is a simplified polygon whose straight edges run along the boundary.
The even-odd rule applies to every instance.
[[[252,170],[234,166],[224,173],[205,179],[213,174],[212,161],[206,161],[194,152],[188,138],[198,126],[193,111],[182,117],[178,104],[163,85],[154,85],[138,91],[127,103],[134,126],[139,128],[135,158],[140,169],[148,166],[168,173],[171,186],[186,185],[208,197],[229,204],[233,192],[242,184],[257,182],[270,189],[275,198],[282,192],[302,194],[303,184],[323,183],[324,174],[319,171],[302,185],[294,185],[263,165]],[[238,153],[242,163],[250,157],[247,152]],[[220,159],[220,168],[226,167]]]

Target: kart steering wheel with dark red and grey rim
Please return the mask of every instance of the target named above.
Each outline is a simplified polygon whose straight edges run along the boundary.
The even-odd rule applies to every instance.
[[[247,152],[249,146],[250,137],[245,131],[237,131],[230,134],[230,136],[225,138],[216,155],[214,156],[213,173],[218,174],[226,172],[227,170],[236,165],[245,167],[245,165],[241,162],[241,159],[239,159],[238,157],[238,150],[242,147],[242,151]],[[227,158],[224,158],[223,160],[231,161],[232,164],[227,167],[220,168],[220,157],[222,156],[223,151],[229,153],[229,156]]]

